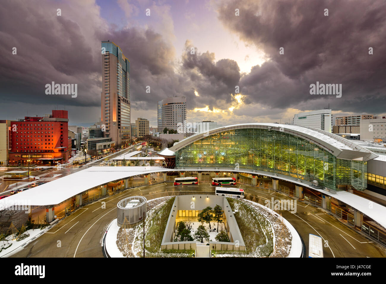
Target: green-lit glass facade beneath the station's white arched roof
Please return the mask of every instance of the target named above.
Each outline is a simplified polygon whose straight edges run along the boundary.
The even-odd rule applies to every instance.
[[[177,167],[228,167],[283,174],[337,190],[367,187],[367,162],[338,159],[308,140],[259,128],[227,130],[203,137],[175,153]]]

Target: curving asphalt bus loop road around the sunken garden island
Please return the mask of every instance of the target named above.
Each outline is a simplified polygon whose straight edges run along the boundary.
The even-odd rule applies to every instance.
[[[292,199],[276,191],[254,188],[244,184],[235,187],[245,189],[245,194],[264,204],[264,200]],[[127,189],[103,200],[84,206],[59,221],[41,237],[29,243],[12,257],[103,257],[102,238],[107,225],[117,217],[116,205],[119,200],[135,195],[148,200],[161,196],[182,194],[214,194],[215,187],[208,182],[198,185],[173,186],[173,183],[159,183],[141,188]],[[105,209],[102,209],[105,202]],[[334,216],[320,208],[297,200],[297,211],[280,211],[299,232],[308,254],[308,234],[320,235],[325,243],[324,257],[385,257],[386,250],[347,227]],[[60,241],[61,247],[58,247]],[[328,243],[328,245],[327,245]]]

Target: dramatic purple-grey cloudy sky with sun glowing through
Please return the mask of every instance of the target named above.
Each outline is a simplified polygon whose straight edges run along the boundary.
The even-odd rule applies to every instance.
[[[132,122],[156,127],[157,101],[174,95],[188,122],[284,123],[328,104],[386,115],[384,0],[7,0],[0,39],[0,119],[58,107],[71,124],[97,121],[106,40],[131,63]],[[51,81],[78,84],[77,98],[46,95]],[[317,81],[342,97],[310,95]]]

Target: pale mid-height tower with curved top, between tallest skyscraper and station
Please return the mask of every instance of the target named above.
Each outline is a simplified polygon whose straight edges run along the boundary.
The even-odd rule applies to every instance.
[[[165,127],[169,129],[177,130],[178,123],[183,123],[183,127],[185,129],[186,97],[175,96],[172,98],[163,99],[162,100],[162,130]]]

